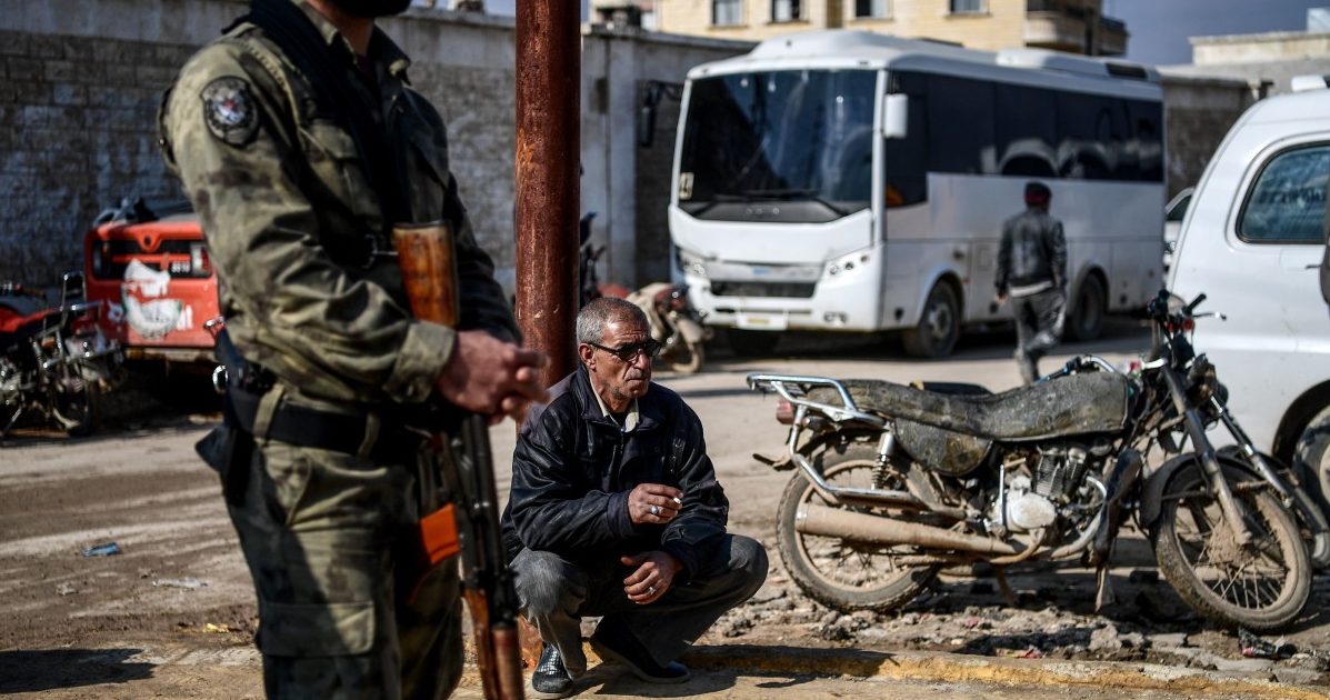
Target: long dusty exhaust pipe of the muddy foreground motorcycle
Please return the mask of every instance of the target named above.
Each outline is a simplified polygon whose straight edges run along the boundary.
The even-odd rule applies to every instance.
[[[983,535],[967,535],[919,523],[904,523],[864,512],[806,503],[794,519],[794,530],[805,535],[841,538],[874,544],[914,544],[932,550],[1013,555],[1021,550]]]

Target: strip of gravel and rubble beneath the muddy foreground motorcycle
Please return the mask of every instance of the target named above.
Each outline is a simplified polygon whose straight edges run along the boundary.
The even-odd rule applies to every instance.
[[[1085,570],[1008,574],[1017,606],[991,579],[944,576],[900,611],[843,613],[801,594],[773,563],[766,586],[708,633],[741,640],[867,651],[940,651],[1012,659],[1108,660],[1168,664],[1298,684],[1330,684],[1326,613],[1309,606],[1286,636],[1265,636],[1287,657],[1244,657],[1238,633],[1192,613],[1153,571],[1115,570],[1119,603],[1093,611],[1093,575]],[[1314,596],[1330,595],[1319,578]],[[704,637],[704,643],[708,639]]]

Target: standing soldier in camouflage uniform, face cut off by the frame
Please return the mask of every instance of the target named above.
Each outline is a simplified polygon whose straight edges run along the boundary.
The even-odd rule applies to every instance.
[[[513,342],[443,122],[374,27],[407,4],[255,0],[162,106],[164,153],[201,218],[242,358],[226,425],[200,454],[222,475],[254,579],[273,697],[451,692],[458,571],[411,570],[438,483],[411,427],[431,395],[515,418],[544,399],[545,358]],[[439,220],[456,233],[460,329],[411,318],[383,253],[394,224]]]

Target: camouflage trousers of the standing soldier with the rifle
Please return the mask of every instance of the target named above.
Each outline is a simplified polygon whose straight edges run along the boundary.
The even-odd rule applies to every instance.
[[[214,468],[230,430],[200,444]],[[258,594],[267,696],[450,695],[463,660],[456,560],[414,595],[400,586],[399,552],[420,511],[416,468],[271,440],[231,462],[249,470],[227,502]]]

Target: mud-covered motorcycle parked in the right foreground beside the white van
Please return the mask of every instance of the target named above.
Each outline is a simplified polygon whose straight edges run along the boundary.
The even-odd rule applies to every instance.
[[[753,374],[790,425],[795,470],[777,514],[786,570],[830,607],[890,611],[939,571],[1076,562],[1112,600],[1108,562],[1128,519],[1165,580],[1226,627],[1273,631],[1311,591],[1311,560],[1290,512],[1301,491],[1275,472],[1226,411],[1214,366],[1190,343],[1192,303],[1161,291],[1148,306],[1153,349],[1120,371],[1083,355],[1032,386],[839,381]],[[1202,314],[1216,315],[1216,314]],[[1237,450],[1214,450],[1212,426]],[[1146,470],[1146,456],[1162,460]],[[1311,527],[1315,547],[1322,531]],[[1317,552],[1323,556],[1325,552]],[[1008,594],[1008,599],[1011,599]]]

